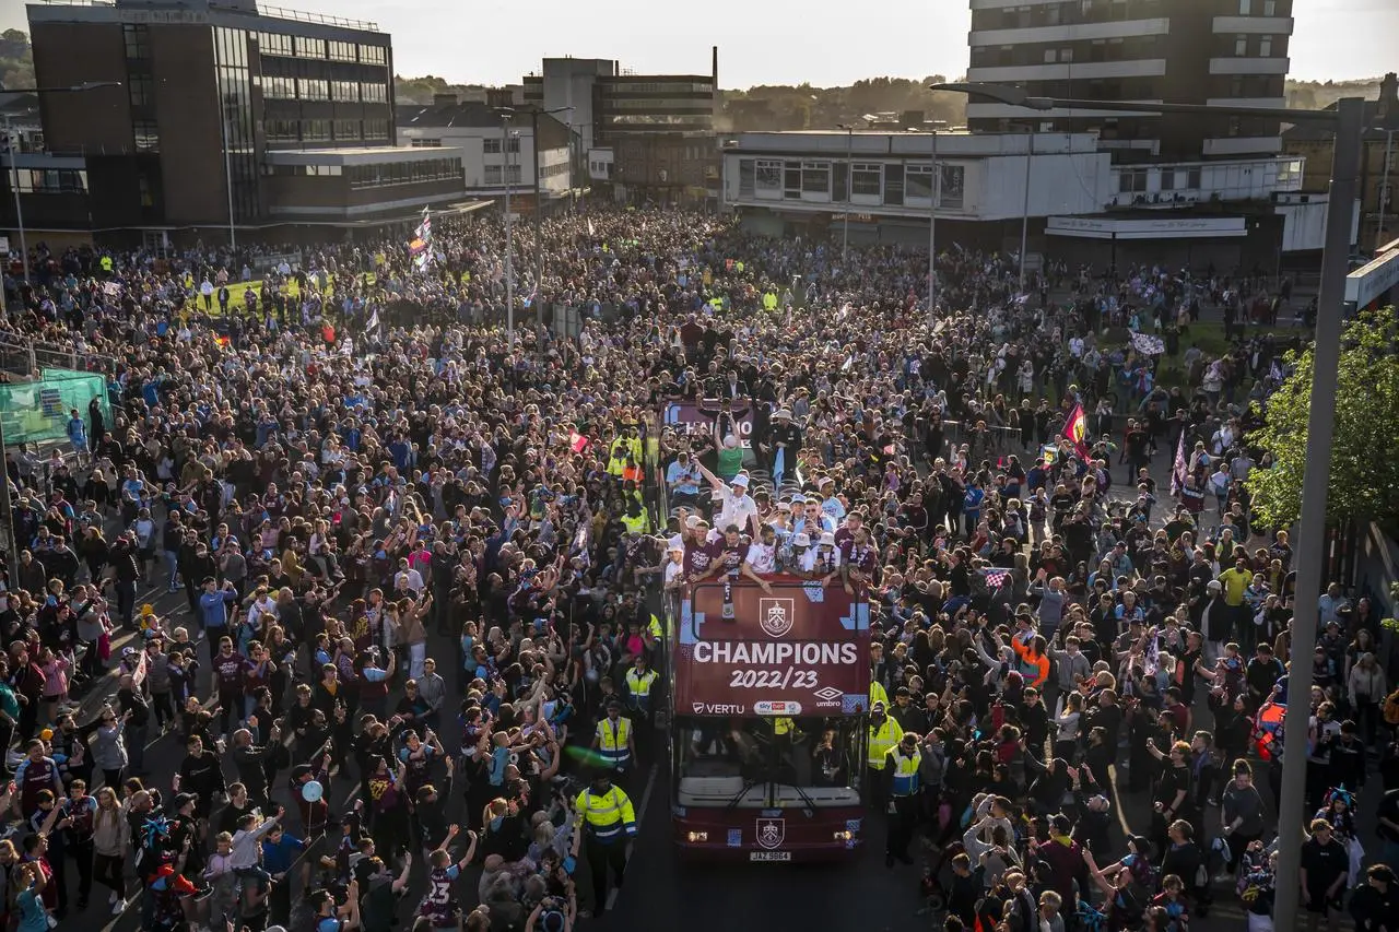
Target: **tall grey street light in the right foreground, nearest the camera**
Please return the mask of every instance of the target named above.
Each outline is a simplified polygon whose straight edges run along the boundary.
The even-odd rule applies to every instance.
[[[1277,901],[1273,907],[1279,932],[1298,925],[1302,806],[1307,798],[1307,732],[1312,687],[1311,648],[1316,642],[1316,613],[1326,539],[1326,490],[1330,480],[1330,439],[1336,427],[1336,385],[1340,365],[1340,320],[1346,305],[1350,225],[1356,213],[1356,175],[1360,168],[1365,104],[1346,97],[1329,111],[1274,109],[1269,106],[1210,106],[1207,104],[1137,104],[1031,97],[999,84],[935,84],[935,91],[983,97],[1031,111],[1056,108],[1191,116],[1254,116],[1284,123],[1319,123],[1336,132],[1332,150],[1330,199],[1326,206],[1325,249],[1321,260],[1321,292],[1316,297],[1316,336],[1312,348],[1311,417],[1307,421],[1307,472],[1302,508],[1297,522],[1297,589],[1291,624],[1287,704],[1283,719],[1283,789],[1277,806]]]

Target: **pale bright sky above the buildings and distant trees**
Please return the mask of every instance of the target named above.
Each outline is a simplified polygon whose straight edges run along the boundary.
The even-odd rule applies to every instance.
[[[860,6],[818,0],[277,0],[276,6],[376,22],[393,35],[395,70],[455,84],[509,84],[541,57],[617,59],[638,73],[708,74],[719,85],[817,87],[869,77],[949,78],[967,69],[967,0],[881,0],[877,22]],[[660,14],[670,8],[673,15]],[[660,15],[658,15],[660,14]],[[1399,69],[1399,0],[1294,0],[1291,77],[1375,77]],[[0,0],[0,28],[25,28],[20,0]]]

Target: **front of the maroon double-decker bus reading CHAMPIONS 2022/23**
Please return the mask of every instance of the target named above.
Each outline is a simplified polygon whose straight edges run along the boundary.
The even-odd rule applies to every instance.
[[[870,613],[862,591],[772,577],[691,586],[670,651],[676,844],[807,861],[863,840]]]

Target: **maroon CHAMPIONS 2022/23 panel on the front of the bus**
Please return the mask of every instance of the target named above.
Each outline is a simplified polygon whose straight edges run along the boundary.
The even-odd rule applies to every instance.
[[[858,715],[869,708],[863,593],[779,578],[701,582],[681,602],[676,709],[694,715]]]

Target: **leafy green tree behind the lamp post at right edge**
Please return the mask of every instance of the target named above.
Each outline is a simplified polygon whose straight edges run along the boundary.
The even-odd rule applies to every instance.
[[[1272,528],[1301,516],[1311,416],[1312,348],[1288,353],[1295,369],[1267,400],[1266,423],[1249,441],[1272,455],[1270,469],[1248,477],[1254,508]],[[1330,446],[1326,521],[1391,522],[1399,516],[1399,319],[1367,312],[1342,334],[1336,427]]]

